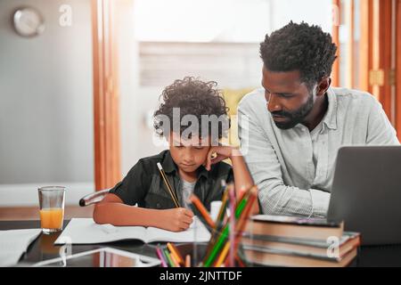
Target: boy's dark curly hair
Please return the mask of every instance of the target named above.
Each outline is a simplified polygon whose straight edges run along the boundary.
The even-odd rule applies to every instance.
[[[225,100],[221,91],[217,89],[215,81],[203,82],[195,77],[177,79],[163,90],[160,98],[163,102],[160,103],[159,110],[153,114],[153,126],[159,135],[169,134],[173,130],[179,130],[182,134],[188,128],[188,125],[182,124],[182,118],[186,115],[192,115],[198,119],[199,137],[205,133],[212,134],[212,128],[218,127],[217,136],[218,139],[221,139],[230,127],[230,118],[227,115],[229,109],[225,106]],[[176,108],[179,108],[179,122],[175,122],[173,119],[173,109]],[[212,126],[213,124],[210,122],[207,126],[202,126],[202,116],[205,115],[214,115],[219,118],[218,126]],[[163,126],[160,116],[167,117],[172,124]],[[205,129],[206,132],[202,132],[202,129]]]

